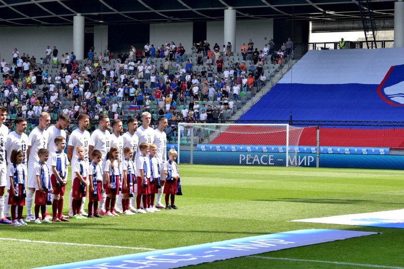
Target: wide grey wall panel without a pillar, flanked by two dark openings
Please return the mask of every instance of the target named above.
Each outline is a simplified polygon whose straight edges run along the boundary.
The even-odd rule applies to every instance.
[[[190,53],[192,46],[192,32],[192,22],[150,24],[149,44],[150,46],[151,44],[154,44],[155,48],[157,48],[161,47],[162,44],[174,41],[176,46],[181,43],[185,48],[185,51]]]

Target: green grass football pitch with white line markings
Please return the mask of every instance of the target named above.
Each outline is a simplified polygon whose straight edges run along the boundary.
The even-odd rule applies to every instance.
[[[404,229],[290,222],[402,209],[404,171],[208,165],[179,165],[179,171],[179,210],[0,226],[1,267],[33,268],[300,229],[335,229],[381,234],[192,268],[404,268]]]

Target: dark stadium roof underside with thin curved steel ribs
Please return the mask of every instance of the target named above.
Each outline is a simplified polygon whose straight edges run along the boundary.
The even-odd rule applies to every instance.
[[[394,1],[373,1],[376,19],[394,17]],[[0,26],[86,25],[220,21],[233,7],[237,20],[360,20],[356,0],[0,0]]]

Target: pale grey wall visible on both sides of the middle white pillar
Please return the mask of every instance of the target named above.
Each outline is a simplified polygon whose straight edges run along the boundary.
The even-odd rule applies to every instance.
[[[207,25],[207,40],[213,48],[215,43],[218,43],[220,48],[227,44],[227,40],[223,40],[224,22],[208,22]],[[236,44],[235,52],[240,52],[243,43],[247,44],[248,39],[252,39],[254,47],[262,50],[268,40],[274,35],[274,20],[241,20],[236,21]],[[267,38],[265,40],[265,38]],[[233,50],[234,51],[234,50]]]

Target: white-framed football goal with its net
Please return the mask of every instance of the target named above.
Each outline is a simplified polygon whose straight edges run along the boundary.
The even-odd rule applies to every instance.
[[[177,161],[298,166],[297,146],[303,129],[289,124],[178,123]]]

